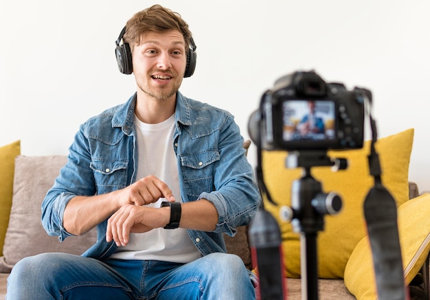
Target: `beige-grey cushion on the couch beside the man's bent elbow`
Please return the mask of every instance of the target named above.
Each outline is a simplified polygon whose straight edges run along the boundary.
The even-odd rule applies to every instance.
[[[41,203],[66,159],[65,156],[16,157],[12,209],[0,257],[1,273],[10,272],[23,257],[45,252],[80,255],[95,242],[95,230],[59,242],[42,227]]]

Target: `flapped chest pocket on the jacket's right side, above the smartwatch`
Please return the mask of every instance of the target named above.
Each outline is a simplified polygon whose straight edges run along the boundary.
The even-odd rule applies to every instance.
[[[214,165],[219,159],[218,150],[206,150],[181,156],[185,192],[190,196],[190,200],[197,198],[202,192],[213,191]]]

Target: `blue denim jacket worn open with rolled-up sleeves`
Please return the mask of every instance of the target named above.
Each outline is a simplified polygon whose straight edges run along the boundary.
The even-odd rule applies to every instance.
[[[74,196],[92,196],[122,189],[136,180],[137,148],[133,95],[80,126],[69,148],[67,164],[42,203],[42,223],[49,235],[63,241],[71,235],[63,213]],[[253,170],[245,157],[243,138],[227,111],[177,93],[172,147],[177,154],[183,202],[209,200],[218,211],[216,229],[188,230],[202,255],[225,252],[222,233],[234,235],[249,224],[260,204]],[[98,224],[98,240],[84,256],[106,259],[115,252],[106,242],[107,219]]]

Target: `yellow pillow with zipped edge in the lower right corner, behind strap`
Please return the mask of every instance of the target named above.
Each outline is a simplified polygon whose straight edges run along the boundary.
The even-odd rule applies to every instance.
[[[430,251],[430,194],[418,196],[398,208],[398,235],[405,284],[417,275]],[[376,282],[369,238],[357,244],[345,268],[346,288],[360,300],[376,300]]]

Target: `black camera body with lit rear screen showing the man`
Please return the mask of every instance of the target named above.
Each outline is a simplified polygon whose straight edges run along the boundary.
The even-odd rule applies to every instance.
[[[283,76],[262,95],[257,115],[251,116],[251,139],[260,139],[265,150],[362,148],[365,103],[360,91],[326,83],[315,71]]]

